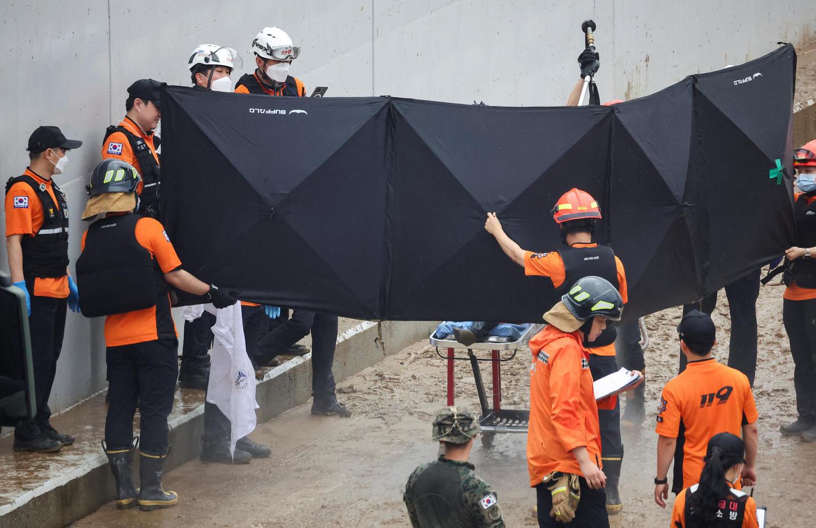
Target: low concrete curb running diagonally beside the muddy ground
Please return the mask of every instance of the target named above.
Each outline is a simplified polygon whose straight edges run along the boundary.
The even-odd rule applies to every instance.
[[[364,322],[343,332],[335,351],[335,381],[378,363],[384,357],[427,338],[436,323]],[[267,372],[256,388],[258,423],[307,402],[312,397],[312,354],[287,361]],[[171,420],[171,455],[166,470],[171,470],[201,452],[204,406]],[[138,456],[136,457],[138,459]],[[134,473],[138,470],[134,468]],[[101,454],[52,478],[33,491],[20,495],[11,504],[0,506],[0,527],[66,526],[93,513],[114,498],[113,475],[108,460]]]

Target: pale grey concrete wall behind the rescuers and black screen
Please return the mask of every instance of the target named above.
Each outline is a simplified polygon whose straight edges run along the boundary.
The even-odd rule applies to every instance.
[[[0,2],[0,180],[27,164],[24,147],[41,124],[86,142],[58,176],[74,217],[99,161],[106,125],[124,113],[137,78],[188,83],[202,42],[241,51],[264,25],[303,46],[293,73],[328,95],[398,95],[457,103],[556,105],[578,80],[579,25],[596,20],[602,99],[648,95],[689,73],[764,55],[777,41],[816,37],[812,0],[124,0]],[[237,74],[233,79],[237,79]],[[500,132],[500,131],[499,131]],[[0,209],[0,215],[5,213]],[[82,222],[71,228],[72,262]],[[7,268],[5,247],[0,266]],[[104,386],[100,322],[69,313],[52,407]]]

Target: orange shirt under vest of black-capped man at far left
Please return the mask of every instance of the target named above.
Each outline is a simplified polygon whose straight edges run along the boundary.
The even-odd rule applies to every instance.
[[[59,208],[60,202],[56,200],[54,194],[54,185],[50,179],[42,178],[35,173],[30,167],[26,167],[23,173],[31,178],[34,178],[38,183],[45,183],[48,194],[51,195],[51,200]],[[26,207],[15,207],[15,197],[26,196],[28,205]],[[11,186],[6,194],[6,237],[11,235],[33,236],[36,235],[42,227],[42,222],[45,220],[45,215],[42,212],[42,201],[37,193],[31,188],[28,183],[17,182]],[[25,266],[25,262],[23,262]],[[64,299],[68,297],[68,275],[62,277],[35,277],[34,291],[32,295],[38,297],[53,297],[55,299]]]

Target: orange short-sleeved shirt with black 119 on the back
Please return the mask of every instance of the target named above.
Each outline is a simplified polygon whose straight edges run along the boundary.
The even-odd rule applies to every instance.
[[[743,425],[758,417],[745,374],[713,358],[701,359],[690,361],[663,387],[654,432],[678,438],[680,426],[685,427],[681,464],[683,487],[689,487],[699,482],[712,436],[728,432],[742,437]]]

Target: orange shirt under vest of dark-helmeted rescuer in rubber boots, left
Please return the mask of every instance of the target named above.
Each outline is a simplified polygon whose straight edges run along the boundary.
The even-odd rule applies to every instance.
[[[140,218],[136,222],[136,241],[150,252],[150,257],[156,259],[162,272],[169,273],[181,266],[179,256],[175,254],[173,244],[166,235],[164,227],[153,218]],[[85,239],[88,232],[82,234],[82,249],[85,249]],[[168,303],[170,294],[167,294]],[[122,346],[155,341],[158,339],[156,306],[135,310],[125,314],[108,315],[104,319],[105,346]],[[168,314],[168,317],[172,317]],[[175,322],[173,330],[176,337]]]

